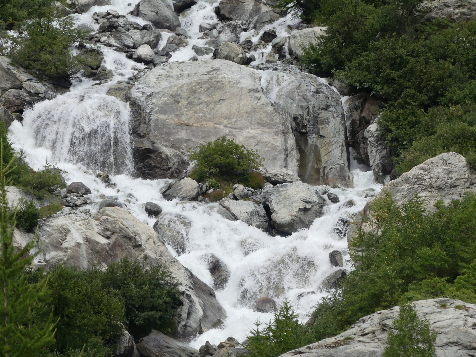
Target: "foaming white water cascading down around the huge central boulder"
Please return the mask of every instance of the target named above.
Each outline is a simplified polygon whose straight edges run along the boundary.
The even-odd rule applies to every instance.
[[[125,14],[138,1],[134,0],[131,6],[127,6],[129,2],[113,0],[113,6],[94,7],[86,14],[77,15],[78,23],[94,27],[91,20],[94,11],[116,9]],[[173,54],[172,61],[188,60],[195,54],[191,46],[203,45],[204,40],[197,40],[200,36],[198,24],[217,20],[213,11],[215,5],[200,0],[181,15],[182,26],[192,39],[186,48]],[[144,22],[137,18],[133,20]],[[281,19],[263,30],[275,28],[278,35],[287,36],[285,28],[290,21],[293,20]],[[256,41],[263,30],[259,33],[243,33],[242,38],[251,36]],[[163,36],[159,46],[165,42],[166,36]],[[361,169],[353,171],[353,189],[327,188],[337,194],[341,203],[328,206],[325,215],[317,218],[309,229],[288,237],[272,237],[241,221],[228,221],[215,212],[218,208],[216,203],[178,204],[177,200],[165,201],[160,188],[169,180],[141,180],[128,175],[131,168],[129,107],[119,99],[106,95],[111,84],[119,79],[127,79],[143,66],[109,48],[103,47],[102,50],[105,54],[104,65],[112,69],[115,75],[112,81],[92,86],[92,81],[85,80],[74,84],[69,93],[25,110],[23,125],[14,122],[10,127],[10,138],[16,149],[24,149],[27,161],[34,169],[40,169],[46,158],[50,162],[57,161],[57,166],[67,171],[67,182],[81,181],[91,188],[93,201],[99,201],[100,194],[117,198],[126,204],[135,217],[149,225],[153,225],[155,220],[144,211],[147,201],[159,203],[164,212],[180,213],[190,219],[186,252],[177,256],[173,248],[168,247],[172,254],[210,286],[213,281],[207,267],[209,254],[218,257],[231,272],[226,287],[216,291],[228,318],[223,326],[194,339],[192,347],[198,348],[206,340],[218,344],[229,336],[242,341],[256,319],[268,322],[272,314],[253,312],[250,308],[255,297],[274,297],[278,302],[288,297],[304,322],[312,307],[327,294],[320,289],[323,279],[336,269],[330,264],[329,252],[340,250],[345,259],[344,268],[351,269],[347,239],[341,238],[335,227],[341,218],[350,218],[364,208],[367,203],[364,189],[381,189],[381,185],[373,182],[372,172],[363,172]],[[272,98],[274,89],[268,90],[268,97]],[[117,184],[117,189],[106,188],[95,178],[98,170],[116,173],[111,179]],[[130,193],[137,201],[129,199]],[[343,202],[349,199],[354,200],[355,207],[343,207]],[[97,205],[86,208],[95,210]]]

